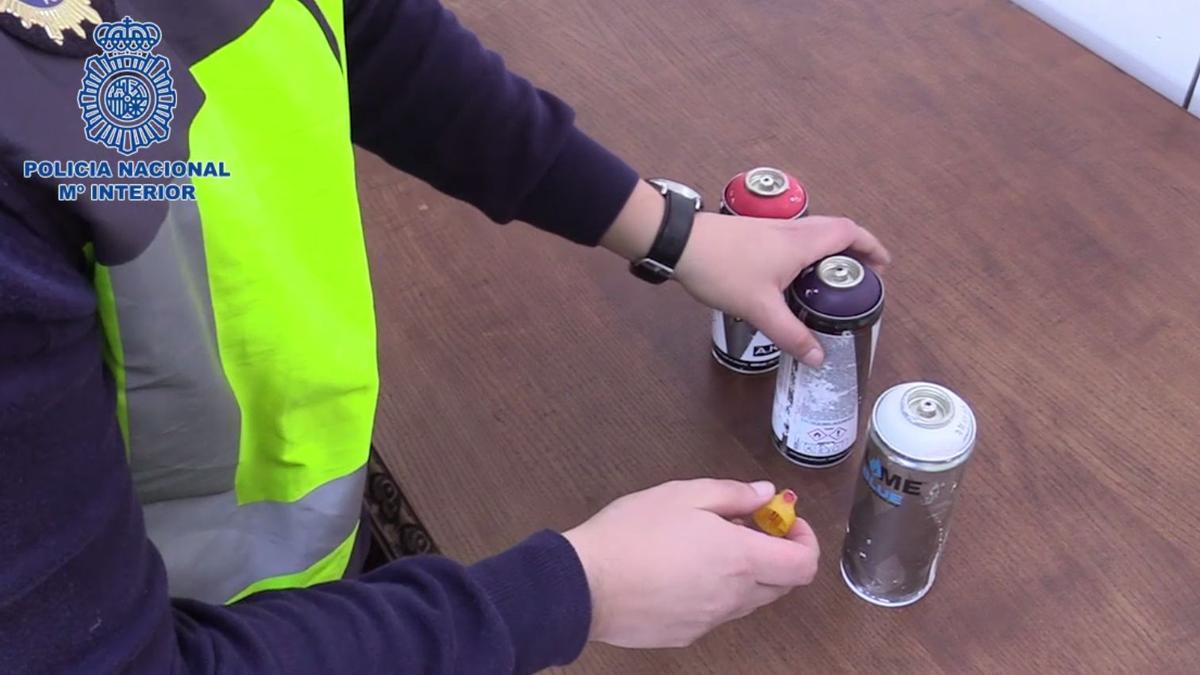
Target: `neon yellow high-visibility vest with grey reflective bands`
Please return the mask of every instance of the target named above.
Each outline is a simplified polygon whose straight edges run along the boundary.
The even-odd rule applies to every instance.
[[[342,1],[311,5],[271,2],[184,73],[204,101],[174,133],[232,178],[191,178],[196,201],[172,203],[145,250],[95,265],[116,414],[174,596],[337,579],[359,525],[374,315]]]

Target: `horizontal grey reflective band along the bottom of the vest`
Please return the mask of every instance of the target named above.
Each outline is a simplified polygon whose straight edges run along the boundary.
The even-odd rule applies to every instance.
[[[298,502],[238,506],[233,492],[145,507],[173,597],[223,603],[259,579],[304,572],[354,531],[366,467]]]

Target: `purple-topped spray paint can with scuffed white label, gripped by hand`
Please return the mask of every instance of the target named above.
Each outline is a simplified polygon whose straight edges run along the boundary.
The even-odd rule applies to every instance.
[[[883,316],[883,281],[848,253],[805,269],[787,305],[816,336],[824,363],[809,368],[784,354],[770,424],[775,449],[808,467],[850,456]]]

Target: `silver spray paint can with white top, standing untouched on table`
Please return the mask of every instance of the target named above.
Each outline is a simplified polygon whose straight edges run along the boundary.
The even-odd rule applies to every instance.
[[[974,413],[944,387],[913,382],[880,396],[842,546],[854,593],[904,607],[929,592],[974,442]]]

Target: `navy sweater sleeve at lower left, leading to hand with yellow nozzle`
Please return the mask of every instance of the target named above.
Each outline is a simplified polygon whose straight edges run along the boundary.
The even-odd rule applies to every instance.
[[[570,544],[402,560],[233,605],[172,602],[77,247],[0,208],[0,673],[532,673],[590,620]]]

